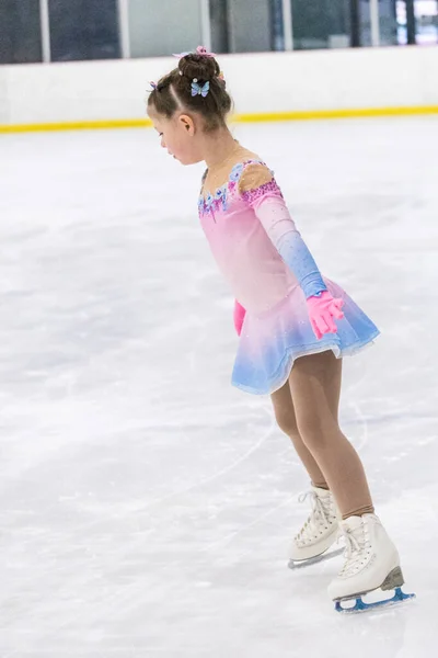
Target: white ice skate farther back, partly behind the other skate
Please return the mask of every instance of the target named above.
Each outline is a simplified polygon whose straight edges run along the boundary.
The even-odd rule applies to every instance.
[[[312,487],[308,494],[300,496],[299,501],[303,502],[309,497],[312,512],[293,540],[289,559],[291,569],[309,566],[343,553],[343,548],[328,553],[339,532],[338,513],[332,494]]]

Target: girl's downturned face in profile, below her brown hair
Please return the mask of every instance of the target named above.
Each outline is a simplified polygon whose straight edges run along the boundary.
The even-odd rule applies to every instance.
[[[171,118],[148,111],[152,125],[161,137],[161,146],[182,164],[195,164],[204,158],[199,149],[199,131],[186,114],[175,113]]]

